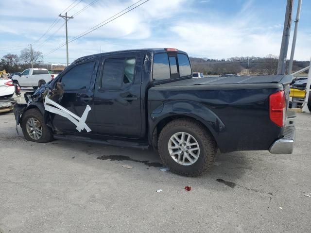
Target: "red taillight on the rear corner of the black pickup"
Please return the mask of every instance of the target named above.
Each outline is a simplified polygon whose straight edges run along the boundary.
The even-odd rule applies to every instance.
[[[284,91],[278,91],[269,97],[269,115],[273,123],[279,127],[285,125],[286,100]]]

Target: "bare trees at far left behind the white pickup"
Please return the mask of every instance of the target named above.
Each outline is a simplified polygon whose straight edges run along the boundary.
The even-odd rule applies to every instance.
[[[42,52],[33,50],[33,64],[37,67],[42,61]],[[0,70],[5,69],[7,73],[21,72],[31,67],[32,54],[29,48],[20,51],[20,54],[8,53],[0,60]]]

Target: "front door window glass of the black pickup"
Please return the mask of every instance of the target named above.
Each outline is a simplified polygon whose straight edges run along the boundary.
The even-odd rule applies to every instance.
[[[70,69],[63,77],[62,83],[65,90],[89,88],[95,62],[87,62]]]

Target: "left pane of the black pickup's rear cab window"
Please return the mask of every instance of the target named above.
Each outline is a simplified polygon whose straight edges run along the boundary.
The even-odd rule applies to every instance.
[[[170,78],[170,65],[167,53],[155,54],[153,79],[158,81]]]

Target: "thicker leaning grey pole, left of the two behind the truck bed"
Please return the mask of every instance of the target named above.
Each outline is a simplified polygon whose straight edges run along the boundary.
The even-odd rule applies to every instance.
[[[287,0],[282,44],[277,64],[277,74],[285,74],[287,50],[291,34],[292,10],[293,10],[293,0]]]

